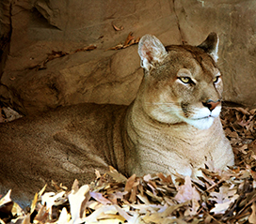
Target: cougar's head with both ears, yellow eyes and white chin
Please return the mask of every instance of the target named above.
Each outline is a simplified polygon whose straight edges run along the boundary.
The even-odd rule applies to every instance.
[[[199,46],[163,44],[152,35],[138,44],[144,80],[138,97],[144,112],[161,123],[186,123],[206,129],[221,110],[223,89],[216,67],[218,37]]]

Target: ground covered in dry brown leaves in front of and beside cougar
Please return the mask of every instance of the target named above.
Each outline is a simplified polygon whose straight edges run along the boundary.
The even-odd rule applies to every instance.
[[[256,110],[224,108],[222,123],[235,167],[217,171],[209,162],[198,180],[163,173],[126,178],[110,168],[93,183],[36,193],[29,212],[0,200],[0,224],[16,223],[256,223]],[[221,155],[220,155],[221,157]]]

